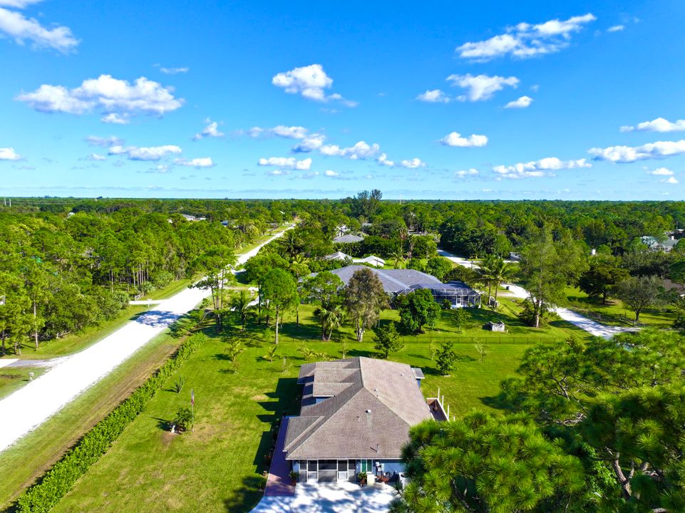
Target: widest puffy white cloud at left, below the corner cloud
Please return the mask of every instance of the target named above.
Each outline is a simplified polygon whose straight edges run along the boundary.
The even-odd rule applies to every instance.
[[[97,109],[121,119],[135,114],[163,115],[184,102],[175,98],[170,88],[145,77],[131,84],[110,75],[89,78],[73,89],[43,84],[32,93],[21,93],[16,100],[43,113],[84,114]]]

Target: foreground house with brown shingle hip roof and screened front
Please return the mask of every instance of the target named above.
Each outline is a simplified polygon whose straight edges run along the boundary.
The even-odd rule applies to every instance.
[[[409,428],[433,418],[422,379],[420,368],[375,358],[304,364],[297,380],[304,385],[302,408],[289,418],[284,443],[300,481],[401,474]]]

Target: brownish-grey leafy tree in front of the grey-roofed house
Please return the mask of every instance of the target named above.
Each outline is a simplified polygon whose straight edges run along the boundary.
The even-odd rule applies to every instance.
[[[374,271],[365,267],[354,272],[345,287],[345,306],[357,341],[364,341],[364,331],[374,326],[381,310],[388,307],[388,295]]]

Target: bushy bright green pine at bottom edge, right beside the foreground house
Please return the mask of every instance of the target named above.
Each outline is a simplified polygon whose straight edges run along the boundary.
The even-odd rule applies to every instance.
[[[403,449],[413,512],[564,512],[584,492],[579,458],[520,416],[475,410],[411,428]],[[584,510],[583,510],[584,511]]]

